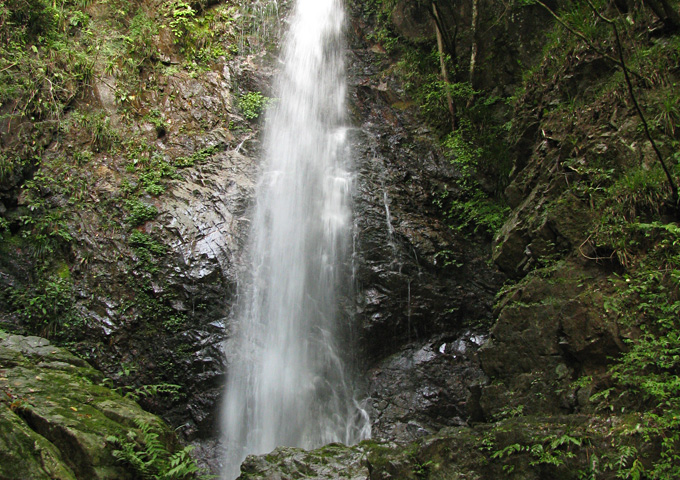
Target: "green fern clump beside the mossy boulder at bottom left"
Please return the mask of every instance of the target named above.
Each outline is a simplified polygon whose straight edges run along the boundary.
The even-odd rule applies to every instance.
[[[106,441],[118,447],[113,455],[131,467],[144,480],[189,480],[199,478],[200,469],[191,457],[193,447],[171,452],[148,423],[135,420],[138,431],[125,437],[109,436]],[[207,478],[200,476],[200,478]]]

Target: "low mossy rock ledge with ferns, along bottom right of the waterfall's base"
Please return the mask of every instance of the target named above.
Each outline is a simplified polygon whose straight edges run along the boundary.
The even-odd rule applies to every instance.
[[[635,421],[588,415],[518,416],[445,428],[409,444],[367,440],[312,451],[280,447],[268,455],[249,456],[239,480],[577,480],[592,467],[593,455],[616,455],[610,435]],[[617,471],[610,468],[601,474],[613,480]]]

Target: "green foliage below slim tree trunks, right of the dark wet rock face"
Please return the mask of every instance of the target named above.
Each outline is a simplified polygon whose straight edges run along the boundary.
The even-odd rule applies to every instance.
[[[453,228],[493,236],[508,209],[502,191],[512,166],[508,124],[503,99],[475,90],[466,81],[441,78],[440,53],[403,44],[395,72],[425,121],[439,133],[440,143],[459,177],[444,191],[434,192],[434,203]],[[453,76],[460,70],[449,56],[445,63]],[[448,99],[457,112],[456,128]]]

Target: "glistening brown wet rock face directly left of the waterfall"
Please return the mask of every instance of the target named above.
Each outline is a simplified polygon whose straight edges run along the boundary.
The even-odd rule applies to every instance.
[[[239,116],[232,80],[256,73],[248,66],[252,59],[238,61],[247,68],[221,59],[198,78],[179,72],[157,79],[159,88],[145,93],[140,108],[160,113],[162,135],[144,119],[125,127],[170,164],[209,152],[178,168],[162,194],[141,191],[139,202],[153,207],[155,218],[130,226],[130,196],[123,190],[125,182],[138,178],[126,175],[123,167],[130,160],[123,154],[101,153],[91,163],[93,208],[74,216],[70,228],[75,258],[70,275],[85,324],[77,350],[119,384],[180,385],[182,395],[175,400],[140,401],[182,425],[190,437],[215,433],[226,369],[222,343],[256,177],[258,126]],[[267,82],[266,69],[258,75],[253,82]],[[99,100],[105,105],[105,98]],[[117,105],[109,106],[115,116]],[[73,145],[82,140],[77,134],[68,138]],[[108,204],[118,211],[107,211]],[[102,228],[105,215],[109,225]],[[145,263],[144,252],[131,243],[137,233],[158,242],[165,253]],[[19,269],[24,257],[5,262],[12,260],[9,267],[22,273],[19,282],[28,278]],[[9,267],[5,271],[11,273]],[[15,276],[3,283],[18,285]]]

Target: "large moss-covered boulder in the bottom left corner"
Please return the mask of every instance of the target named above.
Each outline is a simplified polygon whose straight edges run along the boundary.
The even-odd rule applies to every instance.
[[[136,422],[151,425],[168,450],[175,448],[158,417],[103,381],[84,360],[43,338],[0,339],[0,479],[137,478],[106,440],[125,437]]]

